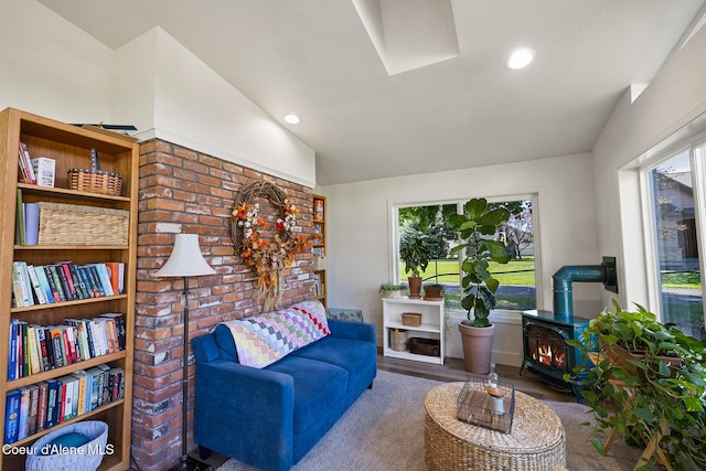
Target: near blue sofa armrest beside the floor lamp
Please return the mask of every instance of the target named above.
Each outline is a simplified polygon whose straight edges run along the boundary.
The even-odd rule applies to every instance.
[[[194,441],[264,470],[292,460],[291,376],[216,360],[196,364]]]

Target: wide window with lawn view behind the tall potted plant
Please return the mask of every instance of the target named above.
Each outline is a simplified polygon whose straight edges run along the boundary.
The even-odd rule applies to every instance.
[[[510,211],[511,217],[494,237],[503,240],[511,256],[506,265],[491,266],[491,271],[500,281],[495,293],[495,309],[536,309],[535,231],[533,213],[536,197],[517,196],[488,199],[489,205],[498,205]],[[460,260],[451,254],[451,247],[459,244],[458,234],[450,231],[446,221],[450,214],[462,211],[467,200],[418,206],[397,206],[397,250],[407,244],[421,243],[429,255],[429,265],[421,274],[425,283],[441,283],[445,287],[447,306],[460,309]],[[397,276],[406,282],[409,274],[402,260],[397,260]]]

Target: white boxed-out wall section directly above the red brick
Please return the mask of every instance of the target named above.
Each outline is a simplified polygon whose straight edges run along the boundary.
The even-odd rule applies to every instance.
[[[139,124],[141,139],[314,185],[314,151],[161,28],[116,51],[116,119]]]

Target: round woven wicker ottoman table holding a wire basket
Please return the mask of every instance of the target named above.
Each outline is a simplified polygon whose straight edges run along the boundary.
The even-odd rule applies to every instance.
[[[550,471],[566,465],[561,420],[539,400],[515,393],[512,433],[475,427],[457,418],[463,383],[447,383],[425,398],[425,468],[428,471]]]

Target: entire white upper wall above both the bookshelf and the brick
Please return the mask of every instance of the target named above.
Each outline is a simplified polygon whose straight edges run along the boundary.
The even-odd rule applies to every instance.
[[[35,0],[0,0],[0,109],[115,122],[313,186],[314,151],[163,30],[117,51]]]

